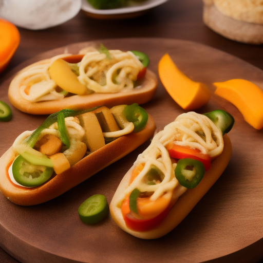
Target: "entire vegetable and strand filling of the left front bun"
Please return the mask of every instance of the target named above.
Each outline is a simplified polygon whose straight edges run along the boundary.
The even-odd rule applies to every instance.
[[[9,177],[20,186],[39,186],[107,143],[140,132],[147,120],[138,104],[56,112],[36,130],[16,138]]]

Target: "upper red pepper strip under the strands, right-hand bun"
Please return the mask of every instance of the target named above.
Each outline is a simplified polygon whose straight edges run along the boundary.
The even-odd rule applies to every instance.
[[[199,149],[192,149],[187,146],[173,144],[172,148],[168,149],[170,157],[175,159],[190,158],[203,163],[204,170],[208,171],[211,167],[211,159],[208,154],[202,154]]]

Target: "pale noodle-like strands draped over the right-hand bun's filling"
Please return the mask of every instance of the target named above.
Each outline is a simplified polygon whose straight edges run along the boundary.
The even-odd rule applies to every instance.
[[[210,157],[220,155],[223,150],[221,130],[208,117],[196,112],[181,114],[174,122],[156,134],[148,148],[138,156],[135,165],[144,163],[145,166],[123,192],[120,200],[123,200],[127,194],[136,188],[141,192],[154,192],[151,201],[155,201],[165,192],[174,191],[179,182],[174,174],[176,164],[172,164],[166,149],[166,146],[171,142],[200,149],[202,153],[208,154]],[[143,178],[152,165],[161,170],[164,178],[159,184],[148,185]],[[182,194],[184,191],[181,188],[178,189]]]

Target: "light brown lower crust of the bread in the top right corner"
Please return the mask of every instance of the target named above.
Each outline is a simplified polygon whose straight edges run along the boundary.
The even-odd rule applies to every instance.
[[[220,12],[208,0],[203,2],[203,22],[206,26],[234,41],[256,45],[263,43],[263,24],[236,20]]]

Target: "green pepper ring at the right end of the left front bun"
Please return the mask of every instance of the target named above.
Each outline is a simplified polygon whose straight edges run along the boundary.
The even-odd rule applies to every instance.
[[[137,103],[128,105],[123,109],[123,114],[127,121],[133,122],[134,133],[140,132],[148,121],[148,114],[145,109],[140,107]]]

